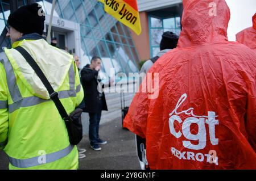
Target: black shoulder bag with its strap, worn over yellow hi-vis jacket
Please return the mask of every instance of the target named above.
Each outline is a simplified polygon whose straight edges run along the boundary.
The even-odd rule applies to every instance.
[[[36,64],[35,60],[31,57],[31,55],[22,47],[16,47],[16,50],[26,59],[28,64],[35,70],[35,73],[43,82],[44,86],[49,92],[50,98],[55,103],[57,110],[59,111],[62,119],[65,121],[65,125],[67,127],[69,142],[71,145],[77,145],[82,140],[82,121],[81,121],[81,113],[82,110],[77,108],[75,111],[71,112],[68,116],[65,108],[60,102],[58,97],[58,93],[55,92],[47,80],[46,76],[44,75],[43,71],[39,68],[38,64]]]

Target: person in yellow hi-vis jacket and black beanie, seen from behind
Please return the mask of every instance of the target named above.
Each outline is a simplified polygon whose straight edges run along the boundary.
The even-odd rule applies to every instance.
[[[42,37],[42,12],[34,3],[7,20],[12,48],[0,53],[0,149],[9,158],[9,169],[77,169],[78,151],[69,143],[64,120],[38,75],[14,49],[26,49],[67,113],[75,110],[84,97],[75,61]]]

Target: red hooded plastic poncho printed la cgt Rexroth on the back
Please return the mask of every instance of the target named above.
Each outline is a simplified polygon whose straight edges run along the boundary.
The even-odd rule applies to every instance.
[[[224,0],[183,3],[178,47],[148,71],[124,126],[146,137],[151,169],[256,169],[256,54],[228,41]]]

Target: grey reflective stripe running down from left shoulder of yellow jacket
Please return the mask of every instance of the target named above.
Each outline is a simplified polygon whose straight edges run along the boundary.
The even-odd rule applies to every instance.
[[[14,74],[13,66],[11,66],[11,63],[8,60],[5,52],[2,52],[0,54],[0,59],[2,64],[5,66],[6,81],[11,95],[11,99],[13,99],[13,102],[17,102],[22,99],[22,95],[20,94],[19,87],[16,83],[16,77]]]

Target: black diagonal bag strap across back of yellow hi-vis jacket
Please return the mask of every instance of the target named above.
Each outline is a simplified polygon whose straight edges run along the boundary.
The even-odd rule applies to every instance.
[[[49,83],[48,79],[46,78],[46,76],[44,75],[43,71],[39,68],[38,64],[36,64],[34,58],[31,57],[31,55],[27,52],[27,50],[25,50],[22,47],[16,47],[15,48],[20,54],[22,54],[22,56],[26,59],[26,61],[28,62],[28,64],[30,64],[30,66],[32,67],[32,69],[35,70],[35,73],[38,75],[38,77],[41,79],[41,81],[43,82],[44,86],[46,86],[46,89],[49,92],[49,96],[50,98],[53,100],[53,102],[55,103],[57,110],[59,111],[61,117],[63,120],[69,120],[69,116],[65,110],[65,108],[63,107],[63,105],[60,102],[60,99],[58,97],[58,93],[55,92],[51,86],[51,84]]]

